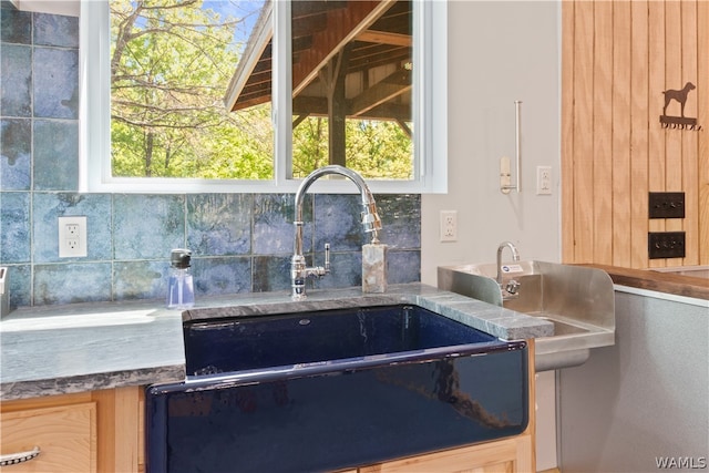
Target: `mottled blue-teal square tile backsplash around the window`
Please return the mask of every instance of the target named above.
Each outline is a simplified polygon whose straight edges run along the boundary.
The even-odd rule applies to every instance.
[[[162,299],[169,251],[193,250],[198,297],[290,287],[292,194],[79,194],[79,27],[2,1],[0,265],[11,304]],[[421,198],[378,195],[389,282],[420,280]],[[306,197],[305,250],[332,273],[317,288],[359,286],[356,195]],[[58,217],[85,215],[88,256],[59,258]]]

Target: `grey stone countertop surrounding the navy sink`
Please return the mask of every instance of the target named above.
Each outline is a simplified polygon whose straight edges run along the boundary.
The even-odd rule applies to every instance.
[[[92,391],[185,378],[183,319],[254,316],[331,308],[413,304],[506,340],[553,335],[553,325],[422,284],[210,297],[188,311],[162,301],[96,302],[21,308],[0,322],[0,400]]]

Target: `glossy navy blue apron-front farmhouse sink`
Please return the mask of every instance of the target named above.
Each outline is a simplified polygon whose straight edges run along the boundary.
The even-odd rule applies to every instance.
[[[315,472],[522,433],[527,347],[411,305],[184,322],[150,472]]]

